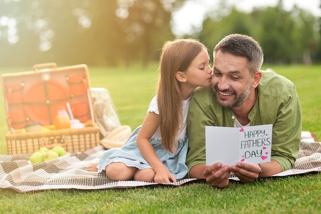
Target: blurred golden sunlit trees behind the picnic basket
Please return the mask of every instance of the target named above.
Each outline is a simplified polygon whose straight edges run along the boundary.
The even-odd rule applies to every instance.
[[[158,60],[171,13],[184,1],[0,0],[1,22],[15,22],[10,30],[0,23],[0,62],[147,65]]]

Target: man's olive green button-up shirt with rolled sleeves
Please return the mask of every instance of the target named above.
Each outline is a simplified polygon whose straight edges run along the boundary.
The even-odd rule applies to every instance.
[[[256,102],[249,113],[251,125],[273,124],[271,159],[282,170],[294,166],[302,131],[302,113],[295,85],[273,72],[262,71],[256,88]],[[186,164],[189,170],[205,164],[205,126],[234,127],[236,117],[230,108],[220,106],[210,87],[199,87],[191,98],[187,131],[189,146]]]

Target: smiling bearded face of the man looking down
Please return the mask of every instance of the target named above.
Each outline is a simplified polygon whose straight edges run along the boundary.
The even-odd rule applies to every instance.
[[[252,91],[252,76],[246,57],[218,51],[214,56],[211,88],[217,103],[232,108],[240,106]]]

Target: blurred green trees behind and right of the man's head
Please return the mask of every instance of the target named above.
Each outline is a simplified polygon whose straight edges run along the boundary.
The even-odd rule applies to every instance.
[[[257,40],[264,50],[268,63],[310,63],[311,56],[317,54],[320,44],[317,33],[318,19],[307,11],[294,8],[286,11],[282,7],[254,9],[251,13],[237,11],[235,8],[223,13],[223,8],[215,8],[204,20],[199,38],[214,48],[224,36],[232,33],[247,34]],[[226,11],[223,10],[223,11]],[[319,52],[321,50],[318,50]]]

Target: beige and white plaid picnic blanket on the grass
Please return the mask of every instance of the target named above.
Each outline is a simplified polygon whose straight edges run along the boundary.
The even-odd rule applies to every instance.
[[[87,172],[86,166],[97,162],[105,149],[96,146],[84,153],[71,153],[43,163],[30,164],[30,154],[0,155],[0,188],[18,192],[47,189],[109,189],[183,184],[204,180],[181,179],[170,184],[145,181],[112,181],[105,173]],[[302,132],[300,151],[294,168],[274,176],[321,172],[321,142],[310,132]],[[231,180],[238,180],[231,175]]]

